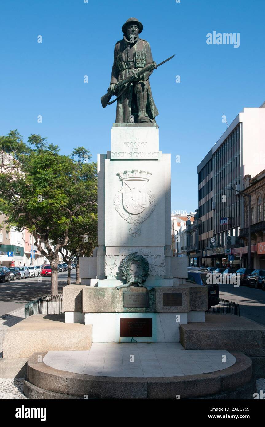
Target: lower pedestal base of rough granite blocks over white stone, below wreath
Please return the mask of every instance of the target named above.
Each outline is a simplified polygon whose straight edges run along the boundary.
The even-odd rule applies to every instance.
[[[179,328],[188,322],[204,322],[207,310],[207,287],[183,285],[178,287],[64,287],[65,319],[92,325],[93,342],[179,342]],[[76,300],[73,313],[73,303]],[[80,305],[82,301],[82,306]],[[81,320],[82,319],[82,320]],[[151,336],[121,337],[121,319],[151,319]],[[136,325],[137,326],[137,325]]]

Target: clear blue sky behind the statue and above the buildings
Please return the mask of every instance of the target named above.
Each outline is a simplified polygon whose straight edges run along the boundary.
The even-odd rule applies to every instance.
[[[141,20],[157,63],[176,54],[150,79],[160,149],[172,155],[172,210],[198,207],[197,165],[227,127],[222,114],[230,124],[265,100],[264,0],[2,0],[0,16],[0,135],[39,133],[63,154],[83,145],[96,160],[110,149],[115,107],[103,110],[100,97],[126,19]],[[240,46],[208,45],[213,31],[239,33]]]

